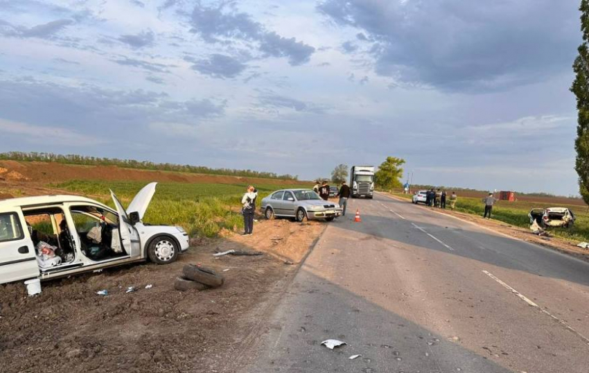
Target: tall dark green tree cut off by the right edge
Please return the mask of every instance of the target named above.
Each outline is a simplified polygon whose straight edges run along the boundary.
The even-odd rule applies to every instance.
[[[579,55],[575,58],[572,69],[577,74],[570,90],[577,96],[577,139],[574,149],[577,150],[577,160],[574,169],[579,175],[579,193],[589,204],[589,1],[581,0],[581,33],[583,43],[577,49]]]

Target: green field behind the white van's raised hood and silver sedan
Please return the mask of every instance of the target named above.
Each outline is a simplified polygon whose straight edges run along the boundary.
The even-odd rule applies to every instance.
[[[51,187],[80,193],[113,206],[109,189],[128,205],[146,182],[69,181]],[[247,184],[159,183],[143,221],[150,224],[180,225],[191,236],[216,236],[222,228],[243,229],[240,201]],[[301,186],[256,185],[257,207],[261,199],[277,189]]]

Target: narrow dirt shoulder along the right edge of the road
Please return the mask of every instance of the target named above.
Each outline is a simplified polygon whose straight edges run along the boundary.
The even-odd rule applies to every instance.
[[[401,200],[403,202],[411,203],[410,200],[406,200],[404,198],[398,198],[396,196],[392,196],[389,193],[385,193],[388,196],[395,198],[396,200]],[[421,206],[420,206],[421,207]],[[589,250],[579,248],[577,246],[577,242],[567,240],[565,238],[560,237],[545,237],[545,236],[538,236],[536,234],[531,233],[529,229],[516,227],[514,225],[509,225],[507,223],[503,223],[502,221],[498,220],[489,220],[484,219],[482,216],[473,215],[473,214],[465,214],[463,212],[458,211],[450,211],[449,209],[434,209],[433,207],[425,207],[424,209],[432,209],[437,211],[441,214],[447,214],[450,216],[456,216],[457,218],[461,218],[462,220],[470,221],[477,225],[481,225],[482,227],[487,227],[493,229],[495,232],[500,232],[502,234],[507,234],[510,237],[518,238],[520,240],[529,241],[533,243],[537,243],[538,245],[543,245],[547,248],[552,248],[553,250],[557,250],[559,252],[563,252],[565,254],[570,254],[574,257],[579,259],[583,259],[585,261],[589,261]]]

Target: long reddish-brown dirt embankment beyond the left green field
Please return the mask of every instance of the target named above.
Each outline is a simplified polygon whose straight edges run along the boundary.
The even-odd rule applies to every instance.
[[[156,182],[191,182],[200,184],[305,184],[293,180],[264,179],[225,175],[204,175],[173,171],[149,171],[117,166],[78,166],[52,162],[0,161],[0,181],[64,182],[67,180],[130,180]]]

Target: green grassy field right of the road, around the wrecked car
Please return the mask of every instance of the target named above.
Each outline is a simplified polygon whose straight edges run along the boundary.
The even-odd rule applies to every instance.
[[[411,199],[412,196],[403,193],[393,193],[395,196],[401,198]],[[484,213],[484,204],[481,198],[466,198],[458,196],[456,203],[456,211],[466,212],[467,214],[475,214],[482,216]],[[589,241],[589,214],[586,207],[579,205],[563,205],[553,204],[547,205],[546,202],[532,202],[532,201],[498,201],[493,206],[493,219],[500,220],[504,223],[516,225],[518,227],[529,228],[529,218],[527,214],[533,207],[568,207],[571,209],[577,220],[574,226],[570,229],[565,228],[548,228],[550,234],[560,236],[575,241]]]

